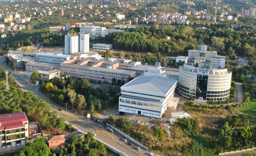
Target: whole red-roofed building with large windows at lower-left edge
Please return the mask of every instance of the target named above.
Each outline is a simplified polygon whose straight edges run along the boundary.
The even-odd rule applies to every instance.
[[[0,149],[25,145],[28,117],[24,112],[0,114]]]

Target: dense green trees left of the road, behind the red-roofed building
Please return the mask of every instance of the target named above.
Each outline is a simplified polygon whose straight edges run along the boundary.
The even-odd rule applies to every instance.
[[[24,111],[29,121],[39,121],[43,128],[57,126],[58,113],[51,111],[51,106],[31,91],[12,88],[8,92],[0,92],[0,99],[1,114]]]

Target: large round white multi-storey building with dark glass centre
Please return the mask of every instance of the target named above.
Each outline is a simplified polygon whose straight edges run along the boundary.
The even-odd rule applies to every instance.
[[[211,62],[179,68],[178,93],[199,101],[222,101],[230,96],[232,72],[227,68],[211,68]]]

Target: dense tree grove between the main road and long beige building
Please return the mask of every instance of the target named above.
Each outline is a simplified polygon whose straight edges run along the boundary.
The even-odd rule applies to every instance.
[[[50,93],[50,98],[59,105],[66,106],[65,103],[69,102],[67,107],[72,106],[72,110],[87,109],[91,113],[114,106],[119,97],[112,87],[108,92],[100,88],[95,89],[87,79],[78,80],[77,77],[71,76],[64,79],[54,77],[41,84],[40,89],[46,94]],[[108,98],[108,93],[113,98]]]

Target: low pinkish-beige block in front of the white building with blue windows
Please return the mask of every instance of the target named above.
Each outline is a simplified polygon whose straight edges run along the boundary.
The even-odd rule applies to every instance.
[[[53,70],[53,64],[47,63],[37,63],[37,62],[28,62],[25,64],[26,71],[33,72],[34,69],[41,70],[41,71],[50,71]]]

